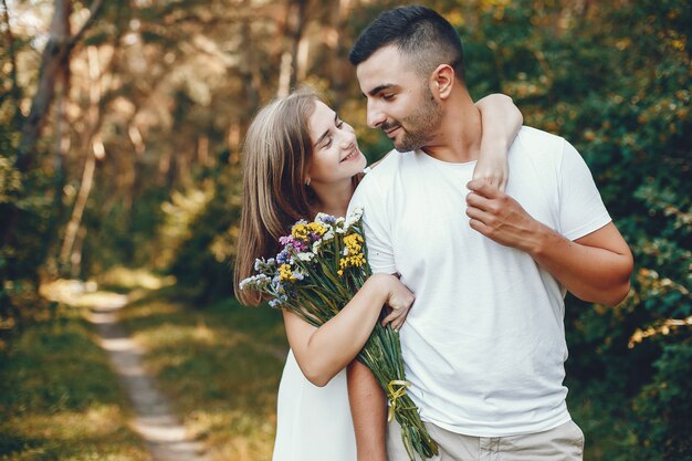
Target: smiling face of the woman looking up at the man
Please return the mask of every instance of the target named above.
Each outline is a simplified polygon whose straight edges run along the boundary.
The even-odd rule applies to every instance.
[[[363,171],[367,160],[358,149],[350,125],[321,101],[308,119],[313,158],[307,171],[311,184],[331,184],[350,179]]]

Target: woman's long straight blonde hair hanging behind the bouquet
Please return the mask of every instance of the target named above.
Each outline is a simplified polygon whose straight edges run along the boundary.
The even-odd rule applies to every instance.
[[[310,88],[274,99],[250,125],[243,143],[243,201],[233,274],[235,295],[256,305],[262,296],[238,284],[252,275],[254,260],[273,256],[279,238],[298,219],[312,219],[306,187],[313,155],[308,119],[321,101]]]

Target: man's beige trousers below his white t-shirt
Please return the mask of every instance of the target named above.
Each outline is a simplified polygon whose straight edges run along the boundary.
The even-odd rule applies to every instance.
[[[545,432],[511,437],[470,437],[426,422],[440,454],[430,461],[581,461],[584,432],[573,422]],[[392,420],[387,428],[389,461],[409,461],[401,442],[401,428]]]

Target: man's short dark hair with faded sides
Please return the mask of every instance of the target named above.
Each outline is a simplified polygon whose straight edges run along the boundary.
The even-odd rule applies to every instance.
[[[388,45],[397,46],[422,76],[440,64],[450,64],[457,77],[464,81],[461,40],[452,24],[430,8],[410,6],[385,11],[358,36],[348,60],[357,66]]]

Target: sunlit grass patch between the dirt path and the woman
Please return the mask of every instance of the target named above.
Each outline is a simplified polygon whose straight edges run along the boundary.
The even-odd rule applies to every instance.
[[[214,461],[271,459],[287,352],[281,314],[234,300],[210,306],[178,300],[176,289],[164,289],[123,312],[148,350],[147,368]]]

